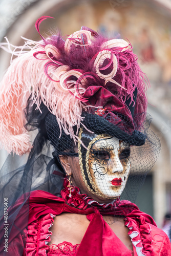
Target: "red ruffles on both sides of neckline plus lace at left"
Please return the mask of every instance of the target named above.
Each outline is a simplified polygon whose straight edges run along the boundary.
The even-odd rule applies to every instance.
[[[68,242],[51,245],[51,247],[47,245],[51,240],[52,232],[49,231],[49,228],[53,225],[54,217],[54,215],[48,214],[28,226],[27,256],[75,255],[79,245],[72,245]],[[126,217],[124,220],[125,226],[130,229],[128,234],[136,248],[137,255],[150,256],[153,252],[151,226],[145,222],[142,216],[137,217],[136,220],[130,217]]]

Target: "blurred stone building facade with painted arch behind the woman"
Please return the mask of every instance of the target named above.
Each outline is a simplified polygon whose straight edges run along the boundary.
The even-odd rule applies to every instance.
[[[0,40],[7,36],[16,46],[20,36],[39,40],[34,28],[42,15],[52,16],[40,26],[70,35],[87,26],[111,36],[131,41],[146,73],[148,113],[153,116],[152,129],[161,140],[162,150],[152,172],[140,190],[137,204],[152,215],[161,227],[166,212],[171,212],[171,1],[170,0],[2,0],[0,3]],[[10,63],[8,53],[0,51],[0,77]],[[1,151],[2,163],[6,153]]]

